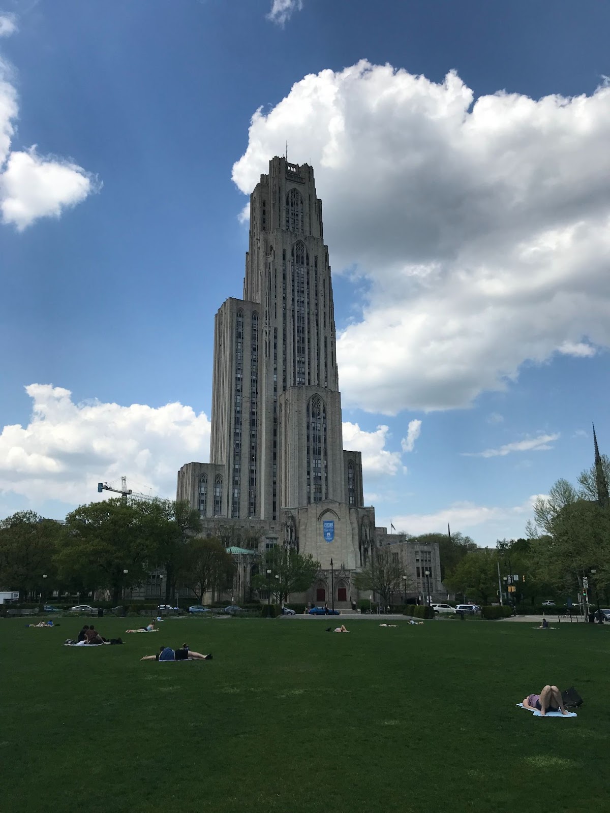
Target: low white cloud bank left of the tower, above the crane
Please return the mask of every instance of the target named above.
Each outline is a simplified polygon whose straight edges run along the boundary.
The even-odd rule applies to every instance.
[[[190,406],[75,403],[62,387],[25,389],[33,400],[29,424],[0,434],[0,491],[78,504],[101,498],[98,481],[120,485],[126,475],[134,491],[175,499],[181,465],[208,459],[210,421]]]

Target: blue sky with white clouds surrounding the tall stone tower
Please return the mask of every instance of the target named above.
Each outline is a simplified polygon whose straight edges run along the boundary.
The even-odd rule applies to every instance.
[[[608,5],[0,11],[0,516],[123,474],[172,497],[207,459],[213,318],[286,141],[378,524],[493,545],[590,465],[591,420],[610,449]]]

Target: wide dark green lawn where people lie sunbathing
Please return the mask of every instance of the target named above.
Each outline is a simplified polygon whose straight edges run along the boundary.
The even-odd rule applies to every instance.
[[[80,620],[0,620],[2,811],[608,810],[608,628],[133,621],[76,649]],[[214,659],[139,660],[183,641]],[[547,682],[577,687],[577,719],[516,709]]]

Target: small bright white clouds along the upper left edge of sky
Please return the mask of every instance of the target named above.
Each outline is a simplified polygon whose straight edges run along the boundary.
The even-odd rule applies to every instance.
[[[0,16],[0,36],[15,30],[14,18]],[[23,231],[40,217],[59,217],[100,185],[76,163],[42,156],[36,146],[11,150],[18,112],[11,69],[0,59],[0,211],[3,223]]]

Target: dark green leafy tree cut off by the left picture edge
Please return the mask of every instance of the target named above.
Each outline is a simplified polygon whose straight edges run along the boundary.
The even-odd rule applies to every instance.
[[[34,511],[17,511],[0,521],[0,586],[28,593],[52,589],[56,580],[54,551],[63,528]],[[46,579],[43,578],[46,576]]]

